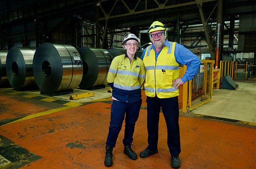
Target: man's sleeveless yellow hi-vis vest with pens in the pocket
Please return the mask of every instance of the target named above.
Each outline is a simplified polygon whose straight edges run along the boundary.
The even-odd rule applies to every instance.
[[[179,77],[179,64],[174,57],[175,42],[169,42],[170,48],[164,46],[155,61],[152,45],[147,47],[143,62],[146,68],[145,94],[148,97],[171,98],[179,95],[178,89],[172,87],[172,80]]]

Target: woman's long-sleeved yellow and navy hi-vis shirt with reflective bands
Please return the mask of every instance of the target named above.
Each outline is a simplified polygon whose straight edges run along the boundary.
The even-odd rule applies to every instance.
[[[145,83],[145,66],[136,57],[131,62],[125,54],[114,57],[107,81],[113,83],[112,96],[119,101],[133,103],[141,98],[140,88]]]

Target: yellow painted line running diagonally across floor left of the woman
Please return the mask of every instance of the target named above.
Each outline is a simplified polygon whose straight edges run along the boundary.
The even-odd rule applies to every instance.
[[[81,103],[75,103],[75,102],[69,102],[69,103],[66,103],[66,104],[63,104],[63,105],[65,105],[66,107],[60,107],[60,108],[57,108],[57,109],[48,110],[48,111],[40,112],[40,113],[35,113],[35,114],[33,114],[33,115],[28,115],[28,116],[26,116],[26,117],[23,117],[23,118],[20,118],[20,119],[18,119],[18,120],[9,122],[9,123],[7,123],[7,124],[12,124],[12,123],[15,123],[15,122],[19,122],[19,121],[23,121],[23,120],[27,120],[27,119],[32,119],[32,118],[35,118],[35,117],[44,116],[44,115],[49,115],[49,114],[56,113],[56,112],[60,112],[60,111],[67,110],[67,109],[72,109],[72,108],[81,106],[81,105],[83,105],[83,104],[81,104]],[[6,125],[6,124],[4,124],[4,125]]]

